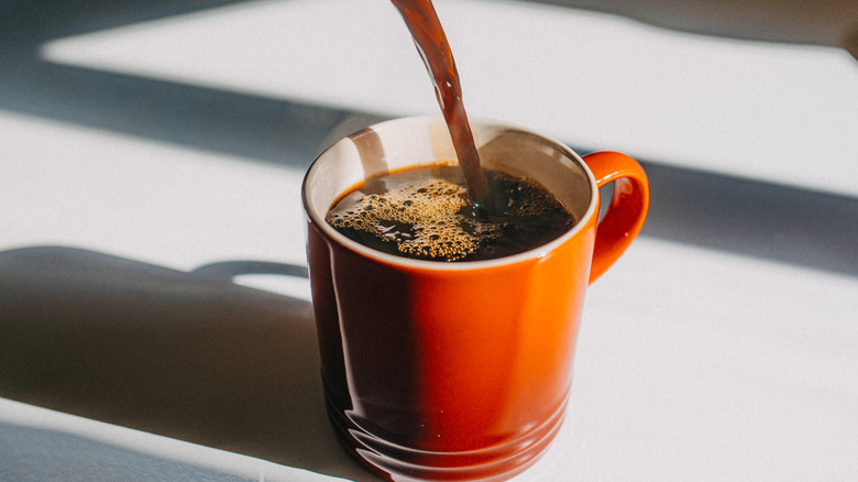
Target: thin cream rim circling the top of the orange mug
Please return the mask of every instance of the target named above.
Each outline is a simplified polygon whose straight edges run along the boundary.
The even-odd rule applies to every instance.
[[[402,117],[402,118],[394,118],[386,121],[377,122],[372,125],[367,125],[359,131],[356,131],[354,134],[358,134],[363,131],[367,130],[382,130],[389,128],[393,124],[398,123],[406,123],[406,122],[419,122],[424,125],[428,125],[429,122],[437,122],[438,120],[441,120],[443,122],[443,117],[441,116],[411,116],[411,117]],[[309,187],[309,180],[312,177],[312,174],[319,168],[318,166],[322,162],[322,157],[331,151],[337,144],[340,142],[345,141],[349,139],[349,136],[343,136],[339,140],[337,140],[334,143],[329,145],[324,149],[317,157],[314,160],[312,164],[308,167],[307,172],[304,175],[304,180],[301,182],[301,202],[304,205],[304,212],[305,216],[309,218],[309,220],[318,227],[329,239],[338,242],[340,245],[349,249],[352,252],[355,252],[364,258],[374,260],[378,263],[392,265],[400,269],[409,269],[415,271],[437,271],[437,272],[458,272],[458,271],[474,271],[474,270],[482,270],[482,269],[488,269],[488,267],[501,267],[501,266],[509,266],[513,264],[527,262],[527,261],[535,261],[542,258],[546,258],[549,255],[549,253],[557,250],[558,247],[565,243],[569,239],[574,238],[578,235],[579,232],[581,232],[586,224],[588,224],[588,220],[595,216],[595,211],[597,209],[598,205],[598,186],[596,184],[595,176],[593,175],[593,172],[590,169],[587,164],[584,162],[584,160],[574,152],[571,147],[565,145],[564,143],[560,142],[559,140],[547,135],[541,132],[537,132],[532,129],[525,128],[515,123],[501,121],[496,119],[485,118],[485,117],[469,117],[469,124],[471,125],[472,130],[476,130],[480,128],[502,128],[502,129],[515,129],[521,132],[526,132],[536,136],[539,136],[546,141],[549,141],[554,147],[557,147],[560,152],[562,152],[566,157],[572,160],[586,175],[587,182],[590,183],[591,188],[591,196],[590,196],[590,202],[587,205],[586,210],[584,211],[584,216],[581,217],[580,220],[575,222],[575,224],[569,229],[568,231],[563,232],[561,235],[552,239],[551,241],[541,244],[539,247],[532,248],[527,251],[522,251],[520,253],[515,253],[506,256],[501,258],[493,258],[490,260],[477,260],[477,261],[432,261],[432,260],[420,260],[420,259],[414,259],[414,258],[406,258],[406,256],[398,256],[395,254],[388,254],[384,253],[382,251],[374,250],[372,248],[369,248],[364,244],[359,243],[358,241],[354,241],[350,238],[348,238],[344,234],[341,234],[339,231],[333,229],[326,220],[324,218],[320,218],[318,212],[316,212],[315,209],[310,208],[310,187]],[[352,134],[352,135],[354,135]],[[421,163],[415,162],[414,164],[409,164],[408,167],[420,165]],[[327,209],[330,209],[329,206]],[[327,215],[327,210],[326,213]]]

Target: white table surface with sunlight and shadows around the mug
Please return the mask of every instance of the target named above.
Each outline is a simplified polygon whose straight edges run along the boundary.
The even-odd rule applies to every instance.
[[[519,480],[855,480],[858,63],[436,3],[472,114],[652,172],[651,222],[588,292],[569,418]],[[0,51],[0,480],[374,480],[328,427],[306,281],[193,271],[302,266],[312,157],[436,111],[393,8],[86,18]]]

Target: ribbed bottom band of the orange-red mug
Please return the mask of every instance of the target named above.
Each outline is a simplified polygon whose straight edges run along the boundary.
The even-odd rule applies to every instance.
[[[503,481],[539,460],[563,423],[565,404],[542,425],[512,440],[479,450],[439,452],[386,441],[351,420],[328,401],[340,442],[359,462],[388,481]]]

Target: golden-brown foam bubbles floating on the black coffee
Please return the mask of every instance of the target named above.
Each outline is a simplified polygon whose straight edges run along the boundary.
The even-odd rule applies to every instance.
[[[331,211],[328,222],[396,243],[404,255],[455,261],[499,235],[495,226],[463,222],[466,197],[463,186],[429,178],[362,195],[348,209]]]

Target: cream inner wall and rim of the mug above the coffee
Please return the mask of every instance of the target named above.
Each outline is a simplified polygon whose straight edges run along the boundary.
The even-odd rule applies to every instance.
[[[487,261],[441,263],[385,254],[338,233],[324,217],[333,202],[363,179],[408,166],[455,160],[443,118],[396,119],[356,132],[324,151],[304,179],[304,205],[310,219],[328,235],[350,249],[388,264],[424,269],[473,269],[476,264],[506,264],[547,252],[574,235],[582,220],[595,216],[598,189],[581,157],[562,143],[516,125],[471,119],[481,164],[491,169],[535,179],[560,199],[578,221],[557,240],[537,249]]]

